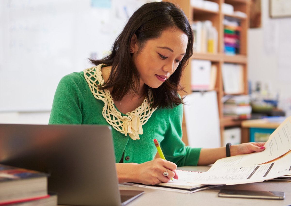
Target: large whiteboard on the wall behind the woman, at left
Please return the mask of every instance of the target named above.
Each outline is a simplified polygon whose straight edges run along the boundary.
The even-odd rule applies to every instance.
[[[50,111],[60,79],[102,58],[145,0],[1,0],[0,111]]]

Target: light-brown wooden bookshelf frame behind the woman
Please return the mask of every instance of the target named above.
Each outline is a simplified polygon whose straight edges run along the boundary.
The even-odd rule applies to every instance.
[[[223,131],[226,127],[241,126],[241,120],[235,120],[229,117],[223,116],[223,103],[221,99],[226,93],[223,91],[223,80],[222,80],[222,65],[223,63],[237,63],[243,65],[243,81],[244,81],[244,91],[241,94],[248,94],[248,81],[247,81],[247,31],[249,28],[249,13],[250,13],[250,0],[210,0],[219,4],[219,11],[214,12],[211,10],[205,10],[202,8],[197,8],[195,5],[191,6],[190,0],[166,0],[175,3],[180,8],[184,10],[184,13],[187,15],[189,22],[192,21],[205,21],[210,20],[213,26],[217,29],[218,32],[218,52],[217,54],[208,54],[208,53],[197,53],[194,51],[193,56],[189,60],[189,64],[184,70],[182,77],[182,86],[186,93],[181,93],[181,95],[191,93],[191,60],[192,59],[202,59],[210,60],[212,64],[217,65],[217,81],[215,85],[215,90],[217,91],[217,102],[219,109],[219,118],[220,118],[220,131],[221,131],[221,142],[223,142]],[[228,3],[233,5],[234,11],[241,11],[246,13],[247,17],[240,17],[236,15],[223,14],[222,4]],[[230,17],[233,19],[238,19],[240,21],[240,26],[242,27],[240,32],[240,54],[237,55],[226,55],[224,54],[224,45],[223,45],[223,36],[224,36],[224,27],[223,19],[225,17]],[[239,94],[237,94],[239,95]],[[183,120],[184,121],[184,120]],[[183,141],[187,144],[187,132],[186,124],[183,122]],[[223,145],[222,145],[223,146]]]

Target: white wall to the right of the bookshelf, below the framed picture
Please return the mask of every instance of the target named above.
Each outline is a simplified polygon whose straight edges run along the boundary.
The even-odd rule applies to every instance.
[[[270,18],[269,1],[262,0],[262,27],[249,29],[248,63],[252,88],[257,81],[271,96],[279,94],[279,107],[291,115],[291,18]]]

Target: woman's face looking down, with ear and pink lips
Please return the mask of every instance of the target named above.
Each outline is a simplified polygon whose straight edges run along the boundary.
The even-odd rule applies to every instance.
[[[148,40],[141,51],[132,43],[133,61],[140,75],[140,83],[158,88],[177,69],[187,49],[188,37],[180,29],[167,29],[157,39]]]

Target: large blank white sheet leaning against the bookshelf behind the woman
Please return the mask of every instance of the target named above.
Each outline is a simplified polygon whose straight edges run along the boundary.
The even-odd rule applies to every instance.
[[[194,92],[184,99],[188,143],[191,147],[221,146],[216,91]]]

